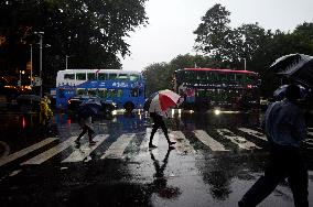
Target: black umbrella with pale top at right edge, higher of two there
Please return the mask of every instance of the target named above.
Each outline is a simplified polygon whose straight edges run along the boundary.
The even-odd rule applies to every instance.
[[[303,86],[313,87],[313,56],[304,54],[285,55],[278,58],[269,69]]]

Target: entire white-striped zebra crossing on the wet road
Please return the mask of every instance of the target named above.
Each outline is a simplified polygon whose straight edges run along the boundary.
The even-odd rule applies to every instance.
[[[235,151],[234,149],[235,146],[237,149],[246,151],[261,150],[267,141],[266,135],[263,133],[248,128],[237,128],[235,132],[230,131],[229,129],[214,129],[214,131],[218,134],[219,139],[216,139],[205,130],[188,131],[187,132],[188,135],[186,135],[185,131],[171,131],[170,139],[176,142],[175,150],[177,153],[188,153],[188,154],[197,153],[197,150],[195,150],[194,148],[194,143],[191,142],[191,137],[198,140],[199,143],[203,144],[203,149],[208,149],[209,151],[213,152],[226,152],[226,153],[229,151]],[[245,137],[236,134],[236,132],[238,133],[238,131],[241,132],[241,134],[245,133],[250,139],[247,140]],[[149,151],[148,142],[150,133],[151,133],[151,128],[147,128],[147,131],[145,133],[143,133],[143,135],[139,133],[123,133],[117,135],[116,138],[111,138],[110,134],[98,134],[97,137],[94,138],[96,141],[96,145],[89,146],[88,143],[85,143],[80,148],[75,148],[74,141],[76,140],[76,137],[71,137],[63,142],[57,142],[58,141],[57,138],[47,138],[21,151],[14,152],[4,157],[0,157],[0,166],[14,162],[19,159],[22,159],[29,155],[30,153],[34,153],[39,149],[47,146],[48,144],[52,145],[52,143],[54,143],[54,145],[52,145],[48,150],[45,150],[44,152],[39,153],[25,161],[22,161],[20,165],[43,164],[44,162],[53,159],[54,156],[56,156],[57,154],[62,153],[65,150],[69,151],[69,154],[66,157],[64,157],[61,161],[61,163],[84,162],[86,161],[86,159],[89,157],[89,155],[94,151],[99,149],[100,145],[108,144],[107,142],[110,139],[114,139],[114,141],[109,142],[108,148],[105,150],[105,152],[101,152],[101,154],[97,159],[98,160],[123,159],[127,146],[136,138],[139,137],[141,141],[138,145],[134,145],[134,148],[139,148],[137,155],[140,156]],[[161,144],[161,141],[165,140],[162,137],[164,137],[163,132],[158,131],[153,138],[153,144],[154,145]],[[57,142],[57,144],[55,144],[55,142]],[[225,145],[224,142],[225,143],[231,142],[231,144],[235,146],[231,148],[229,146],[229,144]]]

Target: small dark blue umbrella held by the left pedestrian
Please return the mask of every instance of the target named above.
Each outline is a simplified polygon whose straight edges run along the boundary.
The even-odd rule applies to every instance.
[[[88,99],[79,105],[79,113],[82,117],[91,117],[98,115],[102,108],[101,102],[97,99]]]

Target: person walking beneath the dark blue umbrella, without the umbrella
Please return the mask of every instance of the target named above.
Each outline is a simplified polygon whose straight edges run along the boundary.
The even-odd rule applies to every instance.
[[[89,145],[95,145],[96,142],[93,140],[93,134],[95,133],[95,131],[93,130],[93,127],[91,127],[93,124],[91,115],[89,113],[88,109],[84,106],[80,106],[77,115],[78,115],[78,124],[83,131],[82,133],[79,133],[79,135],[75,140],[75,143],[79,146],[80,139],[83,138],[83,135],[85,135],[85,133],[87,133],[88,139],[89,139]]]

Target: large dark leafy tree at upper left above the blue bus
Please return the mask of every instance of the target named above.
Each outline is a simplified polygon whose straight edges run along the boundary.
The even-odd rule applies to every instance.
[[[134,28],[148,23],[145,1],[1,1],[0,36],[6,37],[1,55],[7,55],[4,58],[12,64],[22,62],[20,65],[24,65],[29,55],[19,61],[21,55],[17,52],[21,51],[21,45],[29,51],[29,45],[33,44],[34,54],[37,54],[39,36],[34,32],[43,31],[44,44],[51,45],[43,57],[43,67],[50,69],[43,73],[64,69],[66,55],[71,56],[68,66],[72,68],[120,68],[119,56],[130,54],[123,39]],[[36,63],[34,59],[35,67]],[[10,68],[15,67],[12,64]]]

